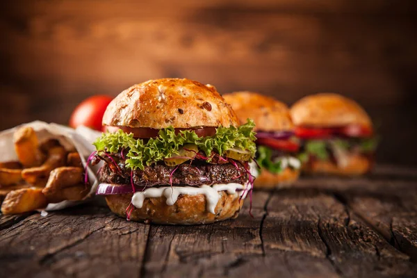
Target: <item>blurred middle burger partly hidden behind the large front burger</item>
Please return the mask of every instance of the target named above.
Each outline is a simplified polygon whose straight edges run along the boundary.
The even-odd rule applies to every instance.
[[[248,117],[256,124],[256,162],[259,177],[255,188],[275,188],[295,181],[300,174],[299,144],[286,104],[256,92],[224,95],[240,122]]]

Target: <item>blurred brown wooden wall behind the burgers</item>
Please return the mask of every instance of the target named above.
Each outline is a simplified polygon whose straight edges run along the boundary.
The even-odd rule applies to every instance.
[[[341,92],[379,126],[379,161],[416,164],[414,2],[2,1],[0,129],[65,124],[90,95],[187,77],[288,104]]]

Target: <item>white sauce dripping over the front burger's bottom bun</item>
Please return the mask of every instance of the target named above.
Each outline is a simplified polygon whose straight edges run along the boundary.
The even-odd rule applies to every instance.
[[[172,206],[177,202],[179,195],[199,195],[202,194],[207,200],[207,211],[215,214],[215,206],[220,199],[219,191],[226,191],[229,195],[242,196],[245,199],[251,185],[249,183],[243,186],[239,183],[215,184],[213,186],[202,185],[199,187],[191,186],[164,186],[159,188],[147,188],[143,191],[136,192],[132,197],[132,204],[137,208],[142,208],[145,198],[158,198],[164,196],[167,199],[167,205]],[[236,190],[240,189],[239,193]]]

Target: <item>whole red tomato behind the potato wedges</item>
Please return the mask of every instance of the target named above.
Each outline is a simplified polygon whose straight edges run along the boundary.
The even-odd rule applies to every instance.
[[[84,125],[101,131],[104,111],[113,99],[106,95],[89,97],[76,106],[70,118],[70,126],[74,129]]]

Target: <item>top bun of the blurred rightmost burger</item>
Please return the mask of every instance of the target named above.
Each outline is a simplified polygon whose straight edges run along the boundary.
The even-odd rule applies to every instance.
[[[295,102],[291,107],[291,117],[295,126],[372,126],[368,114],[359,104],[329,92],[309,95]]]

